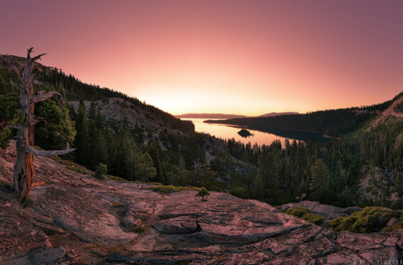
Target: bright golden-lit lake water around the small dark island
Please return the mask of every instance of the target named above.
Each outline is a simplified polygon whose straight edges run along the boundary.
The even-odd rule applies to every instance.
[[[265,133],[263,131],[255,131],[255,130],[250,130],[252,134],[255,134],[253,136],[249,136],[248,138],[244,138],[238,134],[238,131],[241,130],[240,128],[236,128],[233,126],[228,126],[228,125],[223,125],[223,124],[206,124],[203,121],[206,119],[183,119],[187,121],[193,121],[194,127],[196,131],[199,132],[204,132],[207,134],[211,134],[213,136],[216,136],[217,138],[221,139],[235,139],[236,141],[241,141],[243,144],[255,144],[257,143],[258,145],[270,145],[272,144],[272,141],[275,141],[276,139],[279,139],[281,141],[282,146],[284,147],[284,141],[285,138],[281,136],[277,136],[275,134],[269,134]],[[291,142],[292,139],[289,139]]]

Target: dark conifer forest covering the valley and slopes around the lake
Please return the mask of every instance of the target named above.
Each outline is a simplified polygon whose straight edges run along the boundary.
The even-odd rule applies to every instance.
[[[225,121],[333,136],[326,142],[251,146],[196,133],[191,122],[136,98],[38,68],[35,93],[56,90],[65,100],[35,106],[38,120],[48,121],[35,125],[35,145],[55,149],[69,142],[77,150],[57,161],[74,170],[80,170],[78,163],[111,178],[204,186],[272,205],[295,202],[305,193],[333,205],[402,208],[402,94],[370,107]],[[18,82],[0,65],[1,147],[13,137],[9,125],[21,119],[11,80]]]

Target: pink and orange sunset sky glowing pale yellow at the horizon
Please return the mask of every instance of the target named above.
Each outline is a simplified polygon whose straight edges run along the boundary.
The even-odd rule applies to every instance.
[[[0,0],[0,53],[172,114],[311,112],[403,91],[403,1]]]

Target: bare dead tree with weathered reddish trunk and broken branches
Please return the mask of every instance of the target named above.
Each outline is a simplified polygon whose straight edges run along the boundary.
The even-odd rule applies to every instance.
[[[54,95],[62,97],[59,92],[51,91],[45,94],[40,92],[38,95],[33,95],[33,68],[35,60],[45,54],[37,55],[31,58],[33,48],[28,49],[26,58],[26,65],[21,73],[19,67],[11,62],[11,56],[3,55],[1,60],[11,67],[14,74],[18,78],[18,84],[11,84],[20,91],[20,111],[23,115],[23,121],[21,124],[11,126],[17,129],[16,134],[16,163],[14,163],[14,175],[13,175],[13,192],[18,195],[18,199],[23,203],[28,197],[28,193],[31,190],[33,183],[33,156],[56,156],[64,153],[70,153],[74,151],[74,148],[70,148],[67,144],[65,150],[54,151],[41,151],[33,147],[33,129],[34,125],[40,121],[44,121],[41,117],[35,117],[34,109],[35,103],[45,101]],[[37,64],[38,65],[38,64]]]

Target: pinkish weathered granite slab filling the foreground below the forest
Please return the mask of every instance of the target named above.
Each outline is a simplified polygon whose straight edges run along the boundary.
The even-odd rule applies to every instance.
[[[0,151],[0,264],[397,264],[403,259],[402,229],[336,234],[263,202],[214,192],[201,202],[194,190],[161,195],[147,184],[96,180],[50,158],[35,157],[34,202],[21,207],[6,184],[14,156],[12,148]]]

